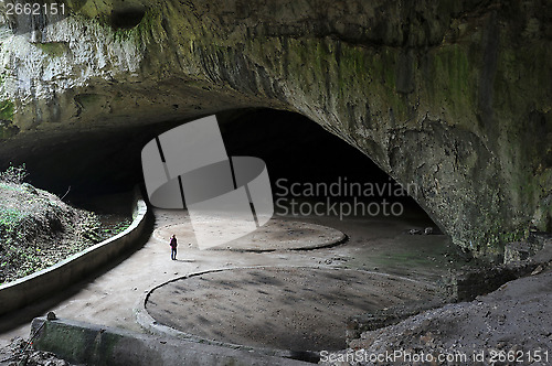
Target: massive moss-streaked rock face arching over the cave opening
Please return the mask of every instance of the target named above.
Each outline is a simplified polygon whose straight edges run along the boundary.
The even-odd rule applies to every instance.
[[[309,117],[416,184],[421,206],[476,254],[499,257],[531,226],[552,230],[544,0],[66,6],[68,17],[15,34],[24,15],[3,11],[2,160],[38,132],[270,107]]]

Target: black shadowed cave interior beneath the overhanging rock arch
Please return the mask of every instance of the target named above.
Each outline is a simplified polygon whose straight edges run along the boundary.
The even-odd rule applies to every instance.
[[[395,184],[370,158],[299,114],[238,109],[217,114],[217,120],[229,157],[257,157],[266,162],[273,193],[279,179],[301,184],[331,184],[338,180]],[[97,209],[91,205],[95,197],[144,185],[141,148],[180,123],[51,134],[36,139],[33,147],[21,146],[12,164],[25,163],[31,184],[65,196],[77,206]],[[413,198],[392,198],[401,201],[415,215],[427,218]]]

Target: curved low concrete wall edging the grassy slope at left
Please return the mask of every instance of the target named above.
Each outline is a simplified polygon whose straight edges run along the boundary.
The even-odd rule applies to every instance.
[[[0,315],[31,304],[91,274],[135,246],[147,227],[148,207],[135,200],[132,224],[123,233],[96,244],[36,273],[0,286]]]

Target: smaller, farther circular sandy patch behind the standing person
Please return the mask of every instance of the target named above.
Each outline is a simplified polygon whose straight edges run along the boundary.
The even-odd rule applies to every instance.
[[[194,225],[201,225],[197,223]],[[224,223],[221,222],[221,225]],[[194,240],[192,225],[188,223],[160,227],[153,236],[161,241],[169,241],[172,235],[182,240]],[[331,227],[270,218],[268,223],[238,239],[210,249],[225,249],[240,251],[274,251],[274,250],[307,250],[329,247],[343,243],[347,236]]]

